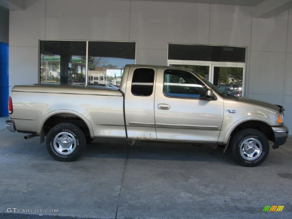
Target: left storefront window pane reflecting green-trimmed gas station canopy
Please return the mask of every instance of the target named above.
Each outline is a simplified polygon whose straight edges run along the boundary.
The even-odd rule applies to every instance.
[[[84,84],[85,41],[40,41],[41,84]]]

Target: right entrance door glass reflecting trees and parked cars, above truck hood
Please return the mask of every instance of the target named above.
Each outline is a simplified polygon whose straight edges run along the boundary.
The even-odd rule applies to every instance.
[[[230,95],[241,97],[243,68],[214,67],[214,85]]]

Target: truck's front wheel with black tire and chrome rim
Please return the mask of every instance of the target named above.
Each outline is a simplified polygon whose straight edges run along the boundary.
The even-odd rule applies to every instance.
[[[267,137],[252,128],[243,129],[236,133],[231,142],[235,160],[242,166],[258,166],[267,158],[270,145]]]

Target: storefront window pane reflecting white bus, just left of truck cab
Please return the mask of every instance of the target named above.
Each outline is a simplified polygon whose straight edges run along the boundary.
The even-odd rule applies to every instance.
[[[88,84],[120,87],[126,64],[135,64],[133,42],[88,42]]]

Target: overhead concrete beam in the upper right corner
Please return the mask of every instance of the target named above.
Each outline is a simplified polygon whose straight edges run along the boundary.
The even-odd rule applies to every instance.
[[[270,18],[273,15],[292,8],[292,0],[265,0],[254,6],[255,18]]]

